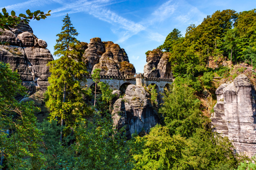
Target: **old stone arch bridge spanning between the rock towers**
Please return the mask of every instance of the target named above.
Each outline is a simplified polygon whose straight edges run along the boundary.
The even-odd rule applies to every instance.
[[[94,82],[91,77],[91,74],[85,76],[87,82],[82,83],[83,87],[91,87]],[[135,77],[131,76],[116,76],[116,75],[100,75],[100,81],[108,83],[111,89],[120,90],[124,94],[128,85],[139,85],[139,86],[148,86],[150,84],[156,84],[157,92],[163,93],[165,87],[169,88],[172,84],[173,79],[163,79],[163,78],[150,78],[144,77],[144,74],[136,74]]]

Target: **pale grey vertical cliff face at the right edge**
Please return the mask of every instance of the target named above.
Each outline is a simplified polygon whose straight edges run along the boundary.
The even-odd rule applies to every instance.
[[[217,104],[211,119],[215,130],[228,136],[238,153],[256,154],[256,93],[249,79],[240,74],[217,90]]]

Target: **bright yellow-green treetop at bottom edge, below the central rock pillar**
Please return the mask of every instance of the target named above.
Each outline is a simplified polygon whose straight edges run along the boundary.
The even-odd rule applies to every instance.
[[[182,150],[187,146],[185,138],[169,135],[169,129],[156,125],[144,137],[137,136],[130,142],[130,154],[135,159],[135,170],[177,169]]]

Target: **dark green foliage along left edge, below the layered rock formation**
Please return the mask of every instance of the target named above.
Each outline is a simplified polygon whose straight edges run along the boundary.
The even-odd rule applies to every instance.
[[[24,91],[17,72],[0,62],[0,168],[36,170],[45,161],[38,149],[42,133],[35,126],[39,108],[15,100]]]

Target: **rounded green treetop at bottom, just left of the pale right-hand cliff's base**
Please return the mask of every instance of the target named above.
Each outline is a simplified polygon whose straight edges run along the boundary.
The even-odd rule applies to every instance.
[[[184,160],[191,169],[198,170],[228,170],[236,168],[237,159],[233,154],[233,146],[228,138],[219,134],[197,129],[188,139],[187,149],[184,150]]]

